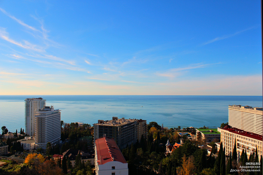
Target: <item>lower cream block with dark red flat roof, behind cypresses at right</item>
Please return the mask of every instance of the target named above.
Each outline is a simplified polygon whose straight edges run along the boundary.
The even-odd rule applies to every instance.
[[[243,149],[247,151],[249,158],[250,153],[256,152],[256,147],[259,158],[262,155],[262,135],[231,128],[229,125],[226,125],[224,128],[218,128],[218,131],[221,133],[221,142],[223,147],[226,148],[226,155],[232,154],[235,139],[238,158],[240,158]]]

